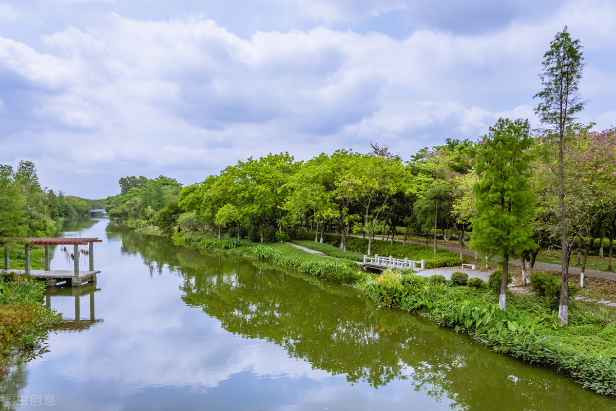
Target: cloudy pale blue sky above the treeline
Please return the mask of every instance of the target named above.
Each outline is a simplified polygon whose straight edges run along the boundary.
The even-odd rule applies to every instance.
[[[583,46],[579,121],[604,130],[615,21],[612,0],[0,0],[0,164],[94,199],[268,153],[409,159],[501,117],[538,126],[564,26]]]

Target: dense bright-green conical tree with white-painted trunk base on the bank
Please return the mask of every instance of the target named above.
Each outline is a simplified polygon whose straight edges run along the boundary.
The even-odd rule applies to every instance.
[[[534,245],[530,220],[537,199],[530,186],[532,143],[528,120],[498,119],[484,137],[475,162],[477,217],[471,219],[471,245],[503,258],[500,308],[505,308],[509,256]]]

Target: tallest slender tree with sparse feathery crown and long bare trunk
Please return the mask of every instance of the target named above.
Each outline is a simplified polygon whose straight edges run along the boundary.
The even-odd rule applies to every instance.
[[[543,71],[539,74],[543,90],[535,97],[541,103],[535,108],[541,123],[546,126],[546,138],[558,146],[557,191],[561,231],[562,283],[558,318],[562,325],[569,324],[569,255],[573,242],[567,236],[565,217],[564,161],[565,138],[570,130],[575,114],[582,111],[584,102],[578,92],[578,82],[582,78],[582,52],[579,40],[572,40],[564,30],[554,36],[550,49],[543,55]]]

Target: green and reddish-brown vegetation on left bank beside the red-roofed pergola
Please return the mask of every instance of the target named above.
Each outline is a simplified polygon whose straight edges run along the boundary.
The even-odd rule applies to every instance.
[[[43,269],[43,246],[32,248],[31,267]],[[9,271],[0,271],[0,377],[7,354],[15,349],[22,354],[35,353],[49,330],[61,321],[59,314],[43,305],[45,284],[21,273],[25,267],[23,246],[10,245],[9,257]],[[0,261],[4,263],[4,247]]]

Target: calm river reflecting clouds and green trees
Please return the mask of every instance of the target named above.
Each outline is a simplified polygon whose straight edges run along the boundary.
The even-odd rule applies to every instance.
[[[526,364],[356,290],[265,261],[176,247],[104,219],[95,285],[52,287],[65,324],[15,360],[6,409],[613,410]],[[52,269],[70,269],[56,249]],[[1,404],[1,403],[0,403]],[[1,408],[1,405],[0,405]]]

